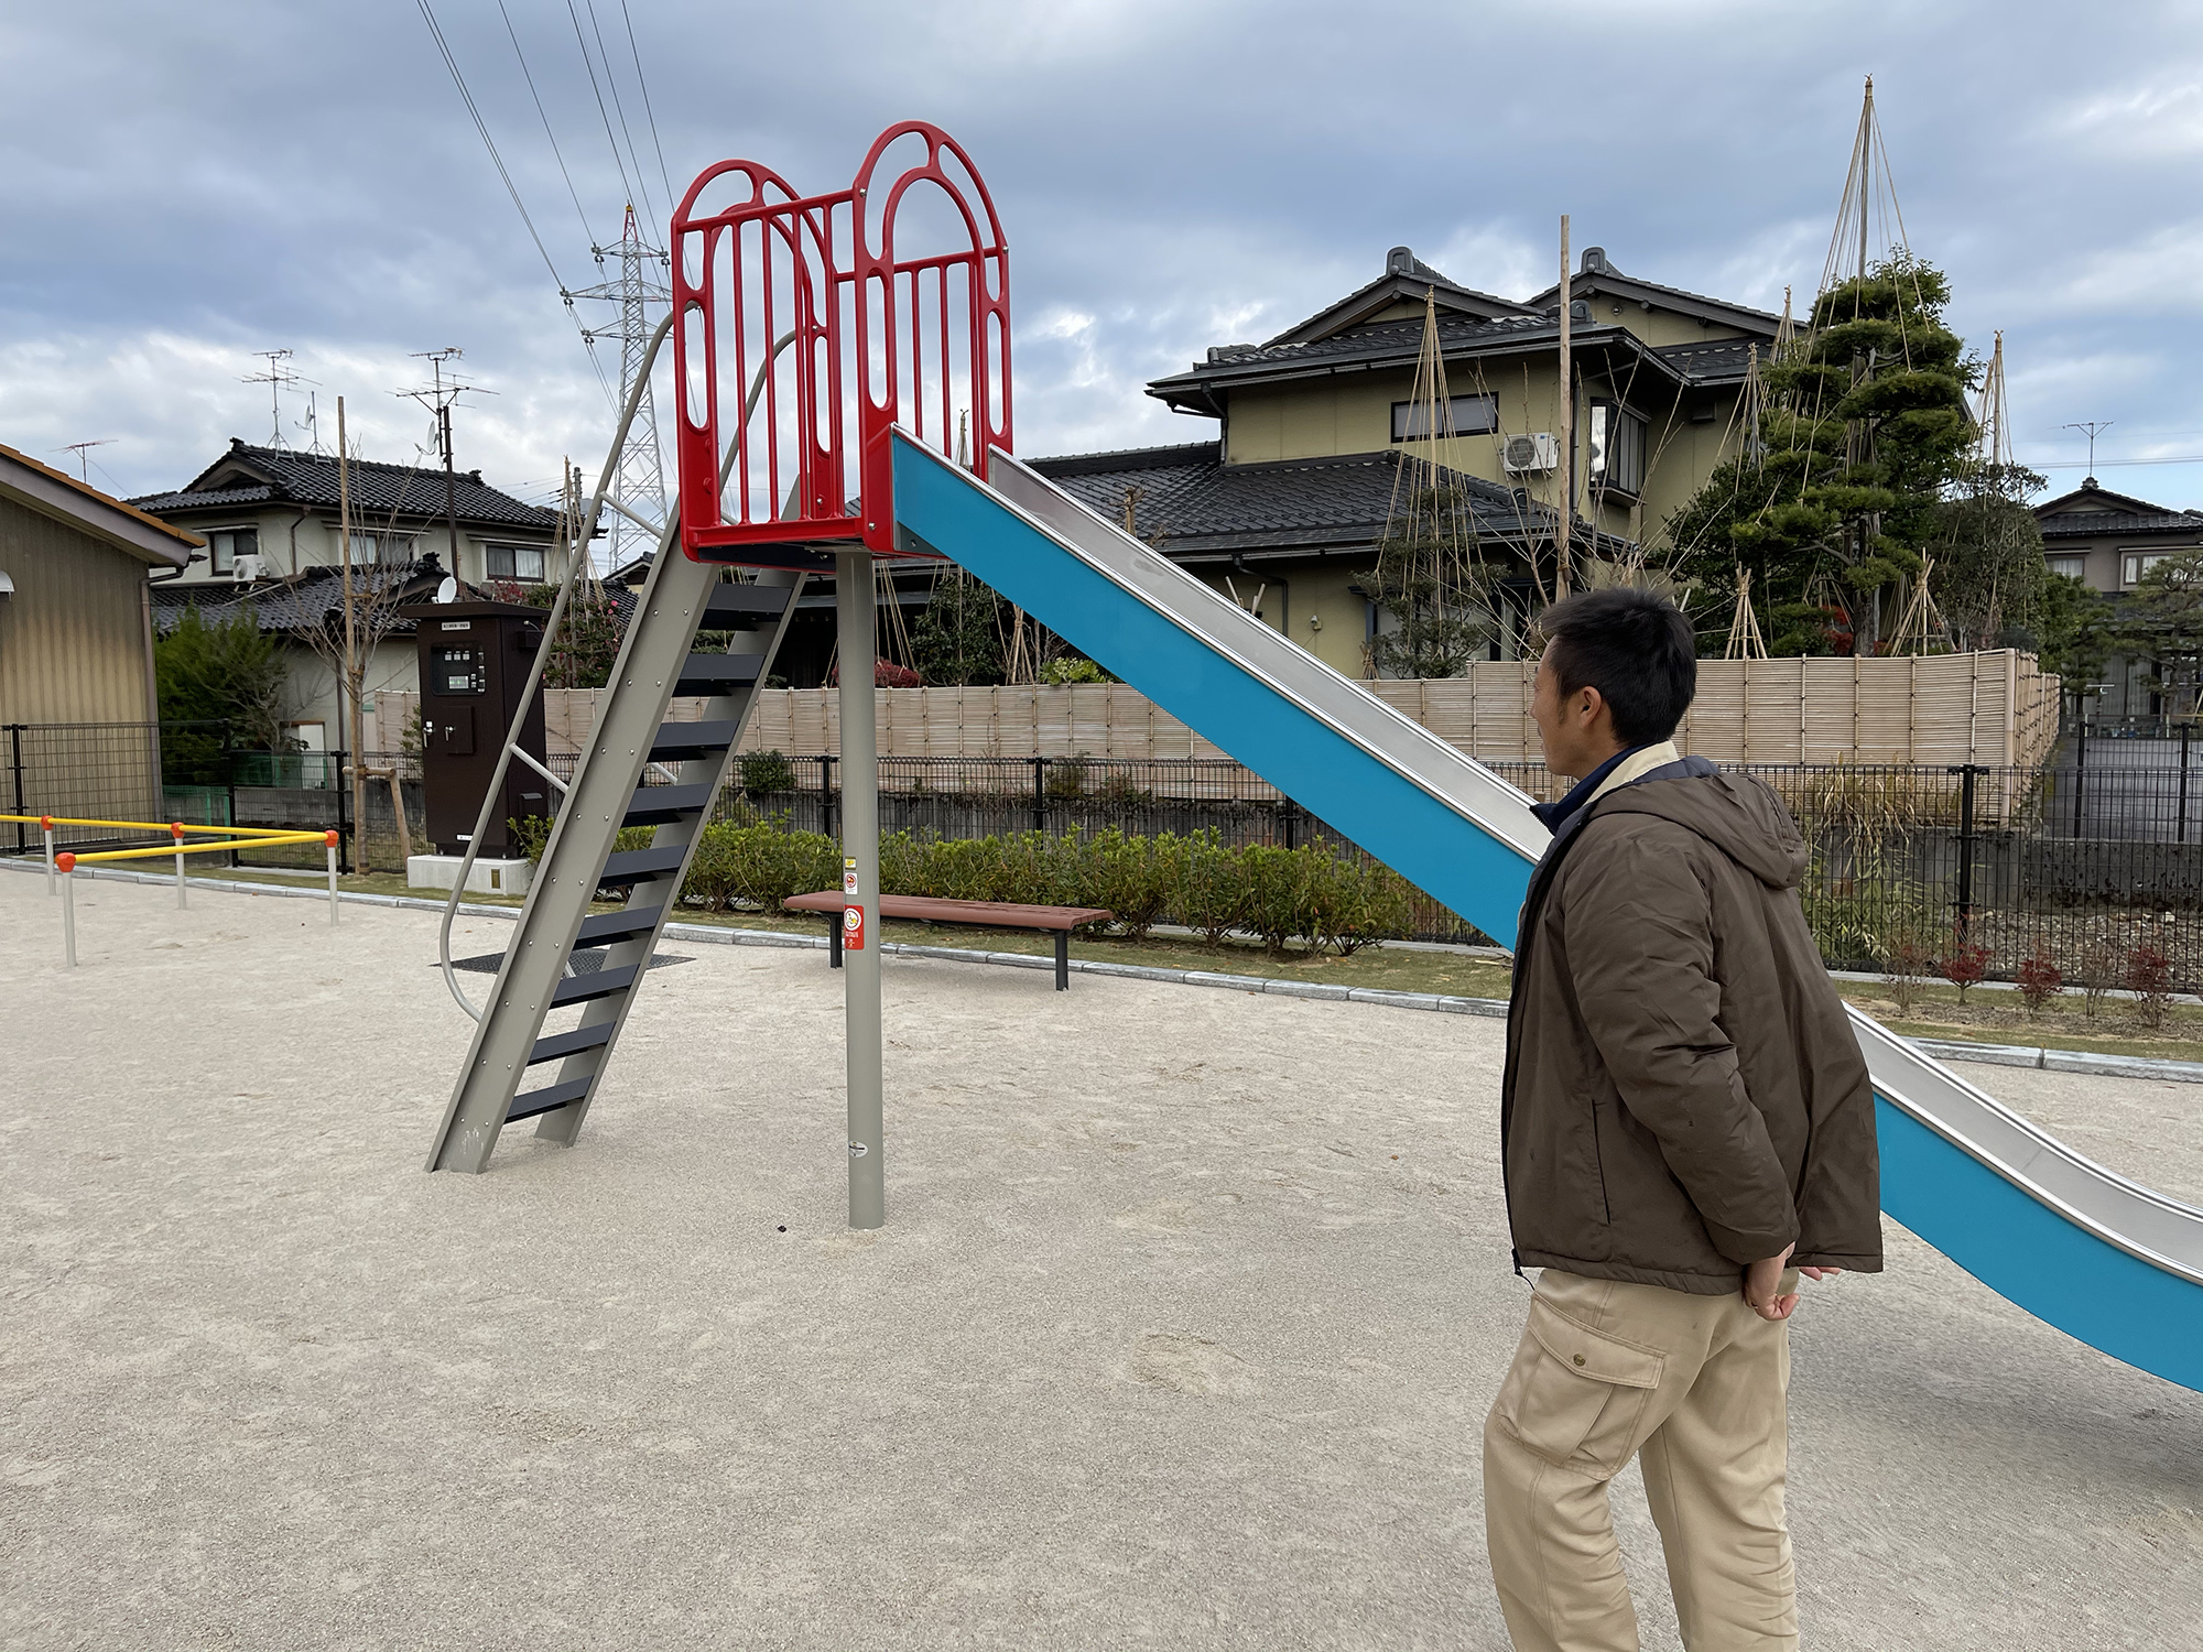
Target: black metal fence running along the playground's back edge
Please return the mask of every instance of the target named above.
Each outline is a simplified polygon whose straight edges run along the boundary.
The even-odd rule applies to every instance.
[[[335,826],[346,839],[359,826],[344,784],[346,753],[236,751],[220,725],[4,725],[0,742],[9,813]],[[2093,729],[2071,736],[2042,769],[1837,762],[1743,771],[1767,782],[1798,819],[1809,850],[1802,899],[1831,967],[1925,960],[1932,971],[1954,947],[1978,947],[1992,978],[2011,978],[2038,956],[2069,982],[2121,985],[2137,958],[2163,958],[2170,985],[2194,991],[2203,987],[2196,745],[2179,725],[2168,733]],[[562,778],[573,764],[573,756],[551,758]],[[414,758],[368,753],[368,767],[399,769],[412,815]],[[1569,786],[1535,762],[1489,767],[1540,800]],[[890,833],[1216,830],[1234,846],[1328,841],[1342,855],[1364,855],[1227,760],[881,758],[879,793]],[[738,811],[833,835],[842,826],[842,762],[749,753],[720,813]],[[366,835],[375,848],[397,841],[388,782],[368,789]],[[90,848],[112,839],[66,828],[59,841]],[[37,826],[0,833],[0,852],[37,850]],[[1478,936],[1421,899],[1408,938]]]

